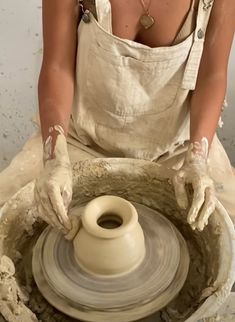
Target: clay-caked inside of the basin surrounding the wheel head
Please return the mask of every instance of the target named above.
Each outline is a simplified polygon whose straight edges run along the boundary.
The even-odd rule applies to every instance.
[[[187,210],[180,210],[177,206],[173,187],[167,179],[171,175],[156,164],[132,159],[87,160],[73,166],[71,213],[73,207],[97,196],[117,195],[160,211],[175,224],[187,242],[191,265],[183,289],[153,319],[150,317],[142,320],[145,322],[197,321],[193,316],[200,310],[213,315],[228,296],[234,279],[231,222],[226,216],[221,216],[221,209],[218,208],[203,232],[192,231],[187,223]],[[22,319],[17,320],[15,315],[15,320],[10,320],[9,315],[2,310],[4,305],[11,312],[20,307],[20,314],[24,314],[25,322],[75,321],[55,310],[43,299],[32,277],[32,249],[46,226],[37,216],[33,190],[34,182],[31,182],[2,209],[0,257],[9,257],[14,262],[16,272],[13,275],[11,271],[9,276],[7,269],[4,273],[3,268],[1,281],[4,285],[4,276],[8,274],[12,294],[17,296],[10,295],[7,300],[0,298],[0,312],[8,321]],[[224,247],[230,251],[229,256],[223,251]],[[19,295],[19,290],[24,293],[23,297]],[[205,310],[207,303],[209,309]],[[200,314],[197,316],[202,318]]]

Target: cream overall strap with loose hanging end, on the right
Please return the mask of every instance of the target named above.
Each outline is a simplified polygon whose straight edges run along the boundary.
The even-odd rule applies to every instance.
[[[194,90],[196,87],[197,75],[204,47],[205,34],[213,2],[214,0],[199,0],[193,45],[189,53],[183,76],[183,89]]]

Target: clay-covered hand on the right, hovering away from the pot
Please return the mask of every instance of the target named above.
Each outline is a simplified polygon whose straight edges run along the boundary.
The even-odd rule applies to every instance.
[[[202,231],[215,210],[216,197],[213,180],[207,170],[208,141],[190,144],[185,162],[173,177],[177,203],[180,208],[188,207],[186,184],[193,188],[193,200],[187,221],[192,229]]]

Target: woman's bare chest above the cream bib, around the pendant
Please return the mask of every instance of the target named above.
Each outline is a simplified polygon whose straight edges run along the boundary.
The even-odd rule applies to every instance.
[[[171,46],[186,19],[195,18],[200,0],[107,0],[111,5],[112,32],[150,47]],[[98,1],[102,4],[102,1]],[[94,12],[95,0],[84,0]],[[154,24],[145,29],[140,18],[149,7]],[[193,9],[194,8],[194,9]],[[102,10],[102,8],[100,8]],[[190,11],[194,11],[194,13]],[[190,17],[188,17],[190,15]]]

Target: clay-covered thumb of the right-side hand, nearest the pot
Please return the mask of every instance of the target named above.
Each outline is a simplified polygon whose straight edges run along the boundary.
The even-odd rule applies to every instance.
[[[180,208],[188,207],[188,196],[185,189],[185,178],[183,172],[179,171],[173,177],[173,185],[175,189],[175,197]]]

